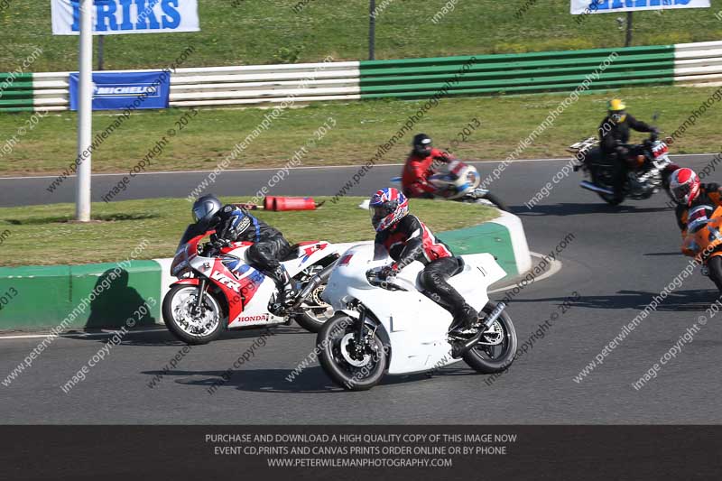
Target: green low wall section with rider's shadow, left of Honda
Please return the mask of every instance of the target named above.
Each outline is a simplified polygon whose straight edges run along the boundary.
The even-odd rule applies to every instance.
[[[0,268],[0,296],[9,293],[0,304],[0,329],[54,328],[66,318],[64,328],[119,328],[129,318],[137,326],[161,322],[159,264],[133,261],[111,281],[117,265]],[[143,305],[149,312],[136,314]]]

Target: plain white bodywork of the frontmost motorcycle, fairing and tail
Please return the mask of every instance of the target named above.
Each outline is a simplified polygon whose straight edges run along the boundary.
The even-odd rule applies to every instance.
[[[469,305],[482,310],[488,302],[487,287],[506,273],[491,254],[462,255],[464,269],[449,283]],[[421,292],[419,273],[423,264],[407,265],[389,284],[400,291],[373,285],[366,277],[369,269],[389,264],[390,259],[374,259],[374,245],[355,245],[341,255],[331,273],[323,298],[334,310],[347,312],[352,301],[360,301],[381,323],[391,344],[388,373],[410,374],[458,362],[450,356],[448,310]]]

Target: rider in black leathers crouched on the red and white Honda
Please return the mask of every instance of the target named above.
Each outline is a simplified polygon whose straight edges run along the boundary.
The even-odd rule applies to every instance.
[[[231,242],[253,242],[246,251],[249,264],[270,275],[282,291],[282,304],[290,304],[298,292],[280,261],[291,253],[291,245],[277,229],[252,216],[245,208],[221,207],[220,200],[207,195],[193,204],[193,216],[204,228],[215,228],[210,236],[216,246]]]

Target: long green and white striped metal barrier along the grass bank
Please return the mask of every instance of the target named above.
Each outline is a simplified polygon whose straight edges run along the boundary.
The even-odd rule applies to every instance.
[[[296,103],[571,91],[610,54],[590,90],[722,79],[722,42],[429,59],[177,69],[171,106]],[[472,60],[473,59],[473,60]],[[143,70],[138,70],[143,71]],[[67,110],[69,72],[0,73],[0,111]]]

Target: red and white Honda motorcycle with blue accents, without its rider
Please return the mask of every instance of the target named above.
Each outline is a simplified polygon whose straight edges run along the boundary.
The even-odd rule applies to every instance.
[[[292,246],[282,263],[301,291],[291,308],[277,309],[279,296],[271,277],[245,262],[245,251],[253,245],[236,242],[216,249],[200,241],[214,231],[186,229],[171,264],[178,278],[163,299],[165,325],[176,338],[188,344],[206,344],[224,328],[274,326],[292,320],[318,332],[333,315],[320,295],[338,259],[337,248],[325,241]],[[273,309],[273,311],[272,311]]]

